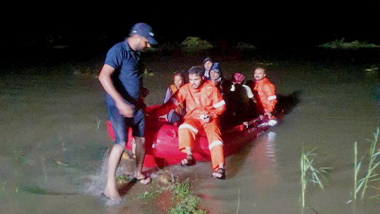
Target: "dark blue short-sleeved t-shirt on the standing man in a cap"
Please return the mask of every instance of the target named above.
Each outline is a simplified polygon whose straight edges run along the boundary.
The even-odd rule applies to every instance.
[[[117,43],[107,53],[105,64],[111,65],[115,71],[111,79],[116,90],[130,104],[134,110],[140,94],[141,71],[138,61],[140,53],[133,51],[127,41]],[[109,94],[106,94],[106,102],[115,104]]]

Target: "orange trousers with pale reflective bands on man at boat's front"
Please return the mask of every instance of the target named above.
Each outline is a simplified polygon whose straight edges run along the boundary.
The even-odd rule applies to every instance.
[[[209,141],[212,170],[216,171],[219,164],[224,162],[223,141],[220,134],[219,121],[214,119],[209,123],[201,120],[187,118],[178,128],[179,150],[186,152],[185,147],[193,147],[198,131],[204,129]]]

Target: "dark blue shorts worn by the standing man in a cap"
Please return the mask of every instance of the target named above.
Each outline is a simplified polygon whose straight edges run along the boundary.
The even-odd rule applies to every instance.
[[[119,109],[115,105],[107,104],[108,119],[111,121],[112,128],[115,132],[115,144],[127,143],[128,128],[132,128],[134,137],[144,137],[145,114],[139,109],[133,114],[132,118],[120,115]]]

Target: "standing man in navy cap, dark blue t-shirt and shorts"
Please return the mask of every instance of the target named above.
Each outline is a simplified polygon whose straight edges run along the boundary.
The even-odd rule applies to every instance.
[[[152,28],[145,23],[135,24],[130,36],[114,45],[107,53],[105,64],[99,73],[99,80],[106,91],[108,118],[115,132],[115,144],[108,159],[107,184],[103,195],[120,200],[116,189],[115,173],[127,142],[126,128],[132,128],[136,141],[135,178],[142,183],[149,182],[142,172],[145,156],[145,117],[140,103],[141,72],[138,69],[140,51],[155,45]]]

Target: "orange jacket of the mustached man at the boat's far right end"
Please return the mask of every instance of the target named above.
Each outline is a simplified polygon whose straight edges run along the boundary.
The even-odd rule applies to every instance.
[[[264,112],[272,112],[277,103],[275,86],[268,80],[268,78],[255,81],[253,84],[253,94],[255,95],[258,104],[262,105]]]

